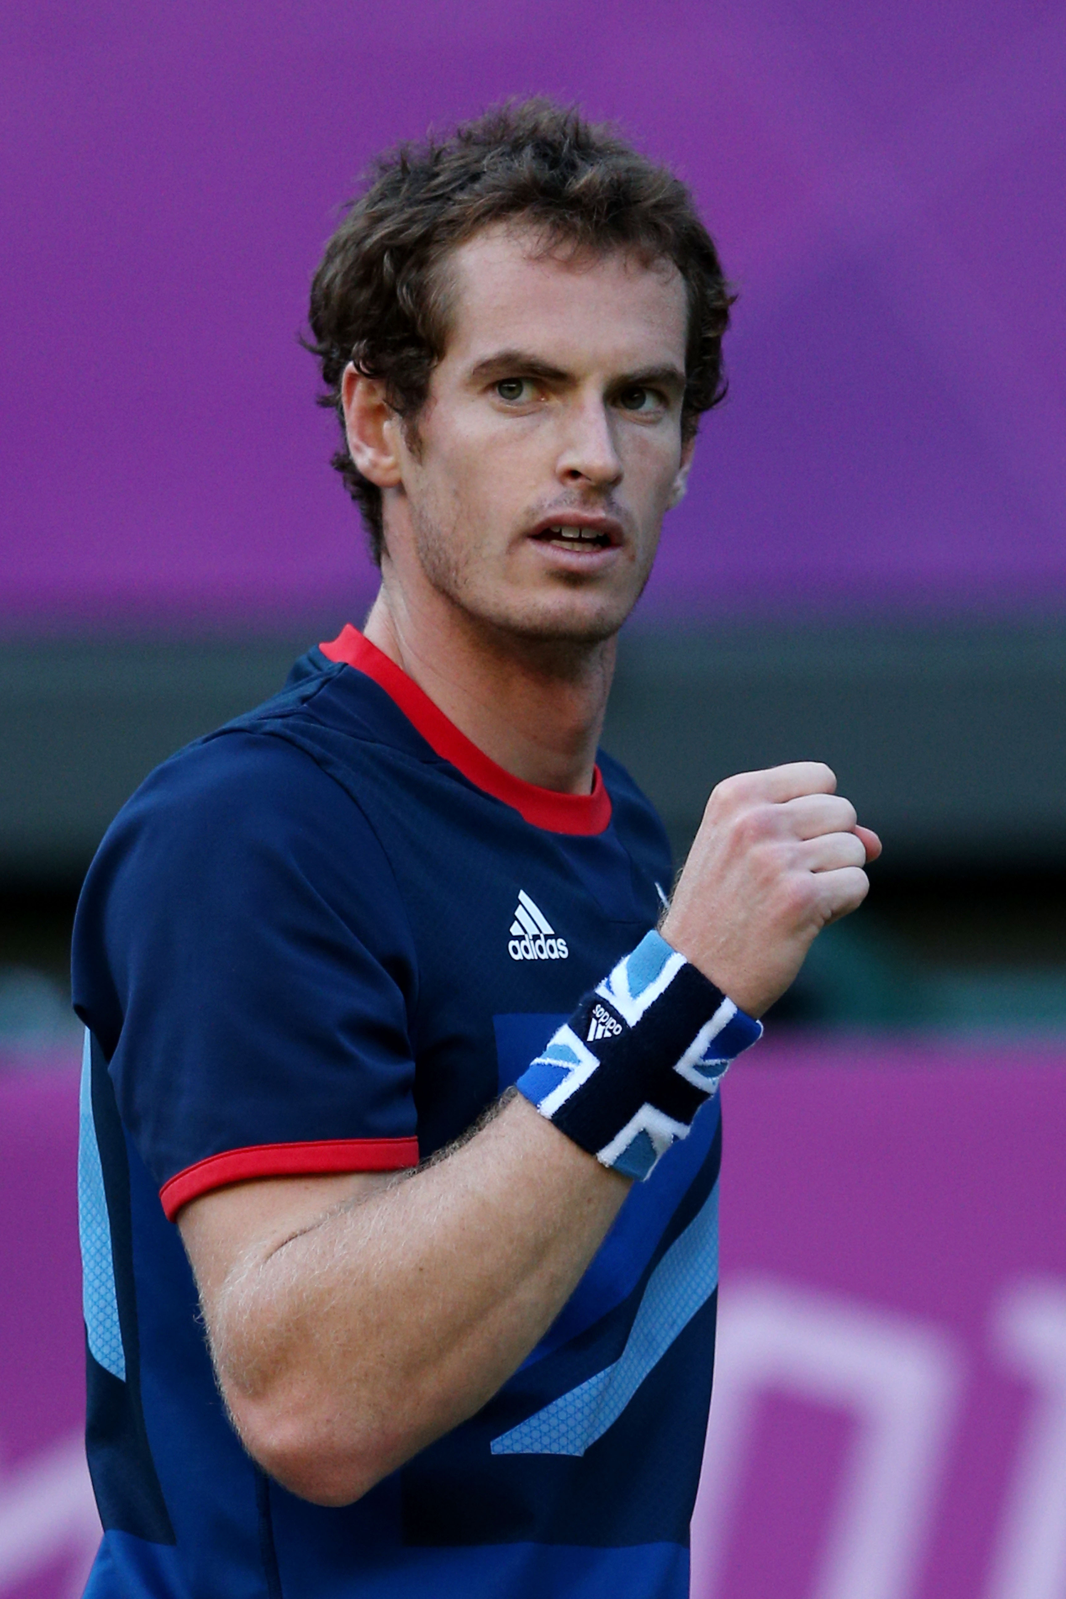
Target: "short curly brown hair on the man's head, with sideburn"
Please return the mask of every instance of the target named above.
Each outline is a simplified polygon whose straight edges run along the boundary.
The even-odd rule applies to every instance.
[[[414,424],[447,341],[446,254],[492,222],[521,219],[545,248],[636,251],[673,261],[689,301],[684,438],[726,393],[722,334],[734,296],[692,195],[614,128],[535,98],[492,107],[444,139],[380,155],[364,192],[326,245],[312,283],[307,349],[318,357],[344,435],[340,384],[352,361],[385,382]],[[356,469],[347,440],[332,457],[366,523],[380,564],[382,494]]]

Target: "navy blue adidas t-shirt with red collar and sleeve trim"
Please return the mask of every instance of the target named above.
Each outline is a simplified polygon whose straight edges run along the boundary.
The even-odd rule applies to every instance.
[[[614,761],[588,796],[519,782],[355,628],[125,806],[74,943],[91,1599],[687,1599],[716,1100],[495,1398],[345,1508],[241,1449],[171,1225],[225,1183],[447,1145],[655,924],[670,873]]]

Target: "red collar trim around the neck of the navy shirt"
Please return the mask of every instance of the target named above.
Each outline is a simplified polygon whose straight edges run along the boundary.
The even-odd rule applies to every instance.
[[[491,761],[465,732],[447,720],[414,678],[390,660],[377,644],[363,638],[358,628],[347,627],[328,644],[318,646],[326,660],[344,662],[372,678],[408,721],[422,734],[430,748],[451,761],[476,788],[513,806],[532,827],[550,833],[603,833],[611,820],[611,795],[596,768],[590,795],[561,795],[555,788],[539,788],[535,784],[511,777]]]

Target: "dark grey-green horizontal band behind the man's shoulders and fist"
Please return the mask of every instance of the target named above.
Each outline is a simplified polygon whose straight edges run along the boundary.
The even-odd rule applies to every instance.
[[[0,644],[0,876],[80,878],[189,739],[276,689],[315,640]],[[1066,862],[1066,624],[633,628],[604,747],[681,852],[730,772],[817,758],[885,870]]]

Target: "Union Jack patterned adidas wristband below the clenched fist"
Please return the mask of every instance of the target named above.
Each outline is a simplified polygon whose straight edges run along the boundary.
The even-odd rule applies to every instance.
[[[518,1091],[603,1166],[642,1180],[761,1036],[761,1022],[649,932],[585,995]]]

